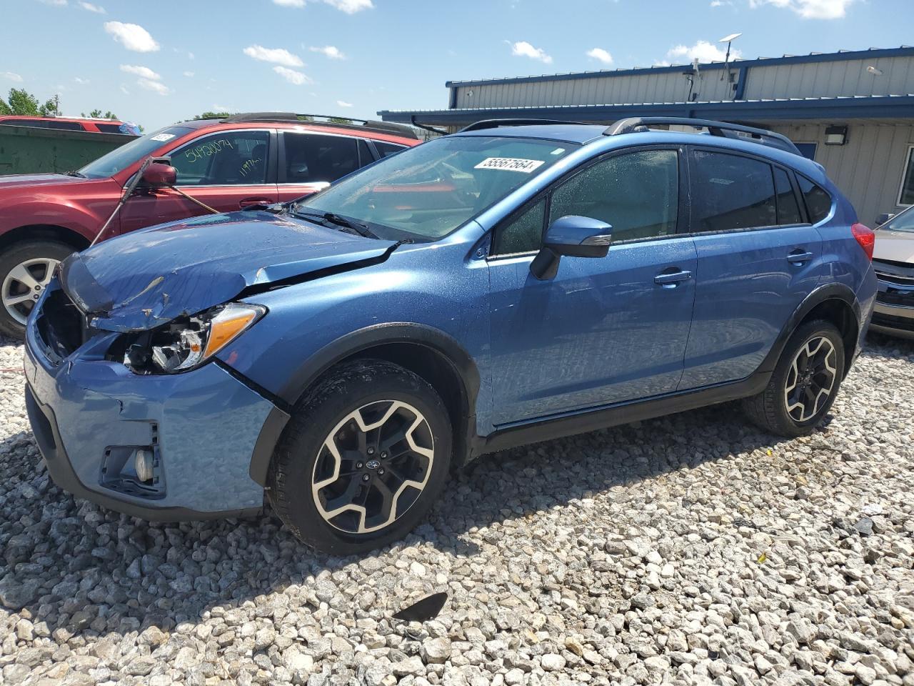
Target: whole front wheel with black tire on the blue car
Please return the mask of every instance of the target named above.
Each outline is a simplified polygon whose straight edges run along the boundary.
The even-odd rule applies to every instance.
[[[387,361],[358,360],[332,370],[293,413],[268,498],[315,550],[366,552],[426,515],[451,452],[451,422],[428,381]]]

